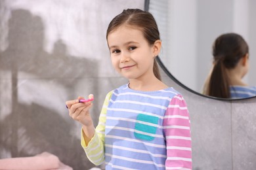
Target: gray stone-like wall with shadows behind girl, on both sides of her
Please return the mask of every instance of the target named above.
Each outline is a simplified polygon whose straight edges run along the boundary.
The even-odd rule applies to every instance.
[[[0,158],[51,152],[89,169],[79,123],[65,101],[95,95],[95,125],[107,92],[127,82],[110,63],[106,28],[144,0],[0,0]],[[190,111],[193,169],[256,167],[256,98],[217,101],[179,90]]]

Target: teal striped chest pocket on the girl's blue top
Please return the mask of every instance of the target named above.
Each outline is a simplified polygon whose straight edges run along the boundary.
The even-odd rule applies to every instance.
[[[152,125],[158,125],[158,117],[156,116],[149,116],[146,114],[138,114],[137,120],[141,122],[136,122],[135,124],[135,132],[134,135],[137,139],[142,139],[145,141],[152,141],[154,140],[154,134],[156,134],[156,129],[158,127]],[[151,135],[152,134],[152,135]]]

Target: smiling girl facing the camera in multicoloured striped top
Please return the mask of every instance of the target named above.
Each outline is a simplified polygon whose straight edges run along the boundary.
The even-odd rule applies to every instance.
[[[112,65],[129,83],[106,95],[96,129],[91,102],[66,102],[82,124],[87,157],[95,165],[105,162],[106,169],[192,169],[188,109],[182,95],[161,82],[154,17],[123,10],[110,22],[106,39]]]

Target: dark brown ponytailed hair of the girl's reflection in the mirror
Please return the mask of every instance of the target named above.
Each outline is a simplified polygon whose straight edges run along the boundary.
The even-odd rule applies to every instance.
[[[228,69],[234,69],[247,53],[249,47],[243,37],[236,33],[223,34],[213,43],[213,71],[209,79],[207,95],[230,98]]]

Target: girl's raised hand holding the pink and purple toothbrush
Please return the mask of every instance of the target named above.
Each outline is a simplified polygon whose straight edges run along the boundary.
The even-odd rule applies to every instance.
[[[89,99],[93,97],[89,95]],[[80,122],[83,126],[92,126],[93,120],[89,114],[89,109],[93,106],[91,101],[86,103],[79,103],[79,99],[84,99],[83,97],[78,97],[75,100],[66,101],[68,110],[70,111],[70,117],[74,120]]]

